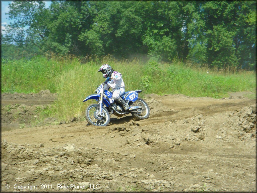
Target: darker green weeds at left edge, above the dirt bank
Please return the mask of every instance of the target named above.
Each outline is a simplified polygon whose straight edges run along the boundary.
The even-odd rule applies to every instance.
[[[31,60],[1,61],[1,92],[39,92],[49,89],[57,92],[54,80],[64,69],[74,67],[78,59],[47,59],[43,56],[33,57]]]

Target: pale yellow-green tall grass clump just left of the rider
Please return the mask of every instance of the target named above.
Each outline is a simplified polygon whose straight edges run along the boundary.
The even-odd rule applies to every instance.
[[[77,65],[69,71],[64,71],[56,79],[58,100],[54,104],[52,116],[60,119],[80,117],[85,104],[82,101],[87,95],[93,94],[96,86],[100,84],[96,78],[98,66],[94,64]]]

